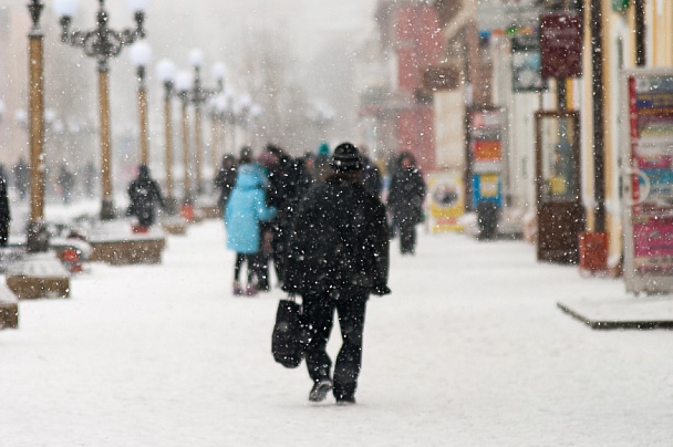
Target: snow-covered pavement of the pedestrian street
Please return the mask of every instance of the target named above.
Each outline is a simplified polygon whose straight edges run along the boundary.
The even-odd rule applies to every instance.
[[[556,306],[624,297],[621,280],[540,264],[521,241],[394,242],[359,403],[315,406],[303,365],[270,353],[282,293],[234,298],[224,238],[196,225],[162,266],[96,263],[70,300],[22,301],[20,330],[0,332],[0,446],[673,443],[673,333],[592,331]]]

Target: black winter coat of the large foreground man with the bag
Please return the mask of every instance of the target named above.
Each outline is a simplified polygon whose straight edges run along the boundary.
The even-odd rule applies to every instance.
[[[362,185],[332,176],[302,198],[290,237],[290,293],[365,288],[390,293],[389,233],[383,204]]]

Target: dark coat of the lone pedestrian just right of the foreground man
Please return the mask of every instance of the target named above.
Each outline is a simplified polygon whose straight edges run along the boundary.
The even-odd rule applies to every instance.
[[[391,180],[387,206],[396,225],[416,225],[423,221],[425,180],[416,168],[397,169]]]

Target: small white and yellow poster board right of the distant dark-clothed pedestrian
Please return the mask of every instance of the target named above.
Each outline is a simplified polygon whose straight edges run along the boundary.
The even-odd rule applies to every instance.
[[[463,178],[457,174],[431,174],[427,181],[427,216],[431,232],[462,231],[465,214]]]

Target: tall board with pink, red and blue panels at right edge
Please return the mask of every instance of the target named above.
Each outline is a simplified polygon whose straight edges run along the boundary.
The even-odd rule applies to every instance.
[[[673,71],[623,77],[622,210],[630,292],[673,292]]]

